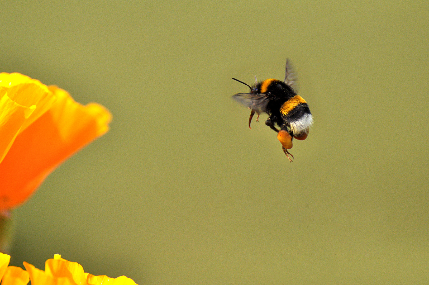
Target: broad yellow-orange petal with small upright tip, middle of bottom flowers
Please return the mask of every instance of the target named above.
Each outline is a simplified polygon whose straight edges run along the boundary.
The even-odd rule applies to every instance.
[[[77,262],[67,261],[63,258],[48,259],[45,262],[45,274],[56,278],[73,279],[73,281],[79,285],[87,284],[82,265]]]

